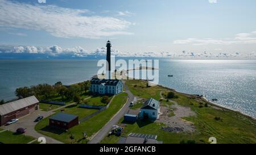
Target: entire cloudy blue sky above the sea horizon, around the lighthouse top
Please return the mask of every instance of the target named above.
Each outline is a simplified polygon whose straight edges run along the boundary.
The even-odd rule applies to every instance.
[[[256,59],[255,0],[0,0],[0,58]]]

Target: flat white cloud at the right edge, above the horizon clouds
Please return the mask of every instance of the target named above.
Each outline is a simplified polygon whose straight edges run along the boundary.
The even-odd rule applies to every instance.
[[[183,40],[175,40],[174,44],[192,44],[192,45],[208,45],[208,44],[256,44],[256,33],[238,33],[232,39],[197,39],[188,38]]]

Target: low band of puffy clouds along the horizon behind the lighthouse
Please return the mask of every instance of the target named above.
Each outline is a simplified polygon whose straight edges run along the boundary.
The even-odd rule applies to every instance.
[[[50,47],[35,47],[29,46],[11,46],[0,45],[0,52],[2,54],[44,54],[47,56],[71,56],[71,57],[87,57],[87,56],[105,56],[106,47],[96,48],[92,51],[87,51],[82,47],[63,48],[58,45],[52,45]],[[112,55],[117,57],[163,57],[163,58],[177,58],[177,59],[256,59],[256,52],[241,53],[241,52],[218,52],[212,53],[208,51],[194,52],[194,51],[180,51],[180,52],[132,52],[132,51],[119,51],[112,48]],[[1,57],[0,57],[1,58]]]

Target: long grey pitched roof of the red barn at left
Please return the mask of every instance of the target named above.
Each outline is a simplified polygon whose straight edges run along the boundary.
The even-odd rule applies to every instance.
[[[35,96],[15,100],[6,104],[0,105],[0,115],[6,115],[10,112],[19,110],[24,107],[31,106],[32,104],[39,103],[39,100]]]

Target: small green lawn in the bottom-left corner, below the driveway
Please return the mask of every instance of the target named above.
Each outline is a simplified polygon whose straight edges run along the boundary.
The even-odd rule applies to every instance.
[[[5,144],[27,144],[28,142],[35,140],[34,137],[25,135],[16,135],[11,131],[5,131],[0,133],[0,142]]]

